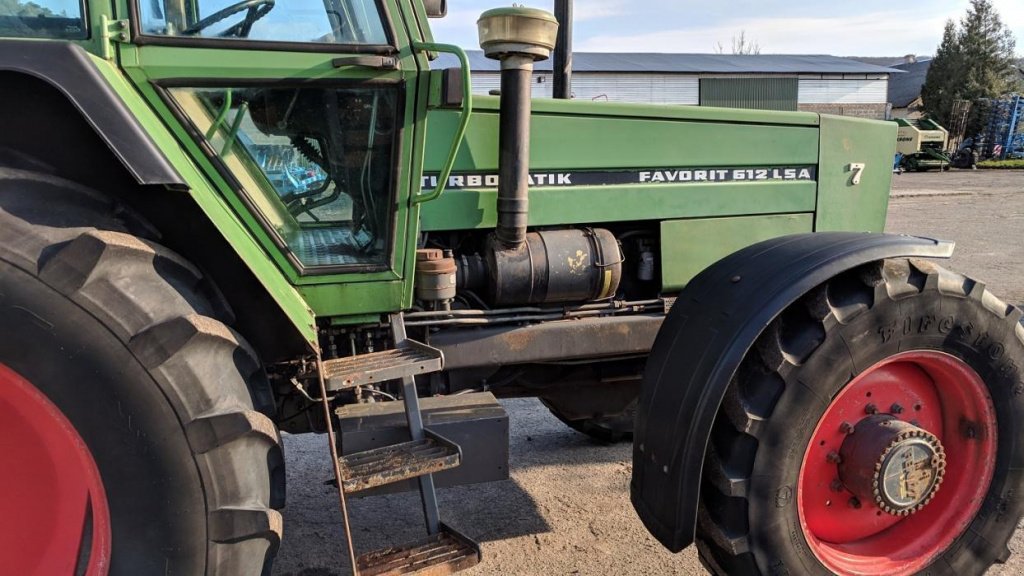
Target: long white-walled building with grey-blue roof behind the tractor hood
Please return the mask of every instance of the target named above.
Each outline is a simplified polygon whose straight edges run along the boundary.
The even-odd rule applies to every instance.
[[[468,52],[473,90],[500,84],[500,64]],[[458,66],[442,56],[435,68]],[[810,111],[885,118],[891,68],[828,55],[575,52],[577,99]],[[551,97],[551,61],[539,63],[534,97]]]

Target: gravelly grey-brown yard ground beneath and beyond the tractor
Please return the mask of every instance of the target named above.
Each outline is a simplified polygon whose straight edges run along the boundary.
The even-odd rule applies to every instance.
[[[1024,171],[926,172],[894,176],[889,232],[957,242],[950,268],[1024,303]],[[629,502],[631,447],[597,445],[534,400],[504,402],[511,419],[511,479],[440,491],[442,519],[482,542],[484,575],[703,574],[692,547],[679,554],[651,538]],[[341,515],[323,437],[285,439],[289,505],[278,576],[348,574]],[[356,548],[422,533],[414,495],[355,500]],[[991,575],[1024,574],[1024,530],[1014,556]]]

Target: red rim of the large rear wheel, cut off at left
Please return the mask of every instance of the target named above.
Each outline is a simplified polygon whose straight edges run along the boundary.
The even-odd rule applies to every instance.
[[[0,563],[9,574],[101,576],[111,520],[99,470],[60,410],[0,364]]]

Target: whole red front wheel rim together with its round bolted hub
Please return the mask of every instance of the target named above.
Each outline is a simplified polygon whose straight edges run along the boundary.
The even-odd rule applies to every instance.
[[[831,572],[916,574],[981,508],[998,439],[987,385],[928,349],[890,356],[836,395],[800,472],[801,526]]]

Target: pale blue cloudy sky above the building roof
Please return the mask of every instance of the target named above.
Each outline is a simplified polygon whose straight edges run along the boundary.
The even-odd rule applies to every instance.
[[[434,38],[477,47],[476,18],[500,0],[449,0],[449,15],[431,22]],[[517,0],[547,10],[552,0]],[[729,51],[745,31],[765,54],[902,56],[934,54],[949,18],[968,0],[574,0],[573,50],[594,52]],[[992,0],[1024,55],[1024,0]]]

